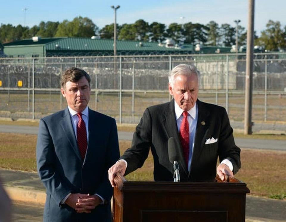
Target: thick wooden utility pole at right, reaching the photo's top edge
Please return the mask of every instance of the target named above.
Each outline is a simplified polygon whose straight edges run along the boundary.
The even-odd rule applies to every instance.
[[[253,39],[254,39],[254,0],[248,0],[248,29],[246,45],[246,71],[245,71],[245,108],[244,108],[244,134],[252,134],[252,74],[253,74]]]

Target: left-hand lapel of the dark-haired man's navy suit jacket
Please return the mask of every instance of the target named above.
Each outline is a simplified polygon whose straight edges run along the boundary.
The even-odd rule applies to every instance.
[[[63,127],[63,133],[66,134],[71,147],[74,149],[74,152],[76,153],[77,157],[81,160],[81,156],[80,156],[80,151],[78,149],[77,146],[77,140],[76,137],[74,135],[74,129],[71,123],[71,116],[69,114],[69,109],[66,108],[64,111],[64,115],[63,115],[63,119],[60,121],[61,126]]]

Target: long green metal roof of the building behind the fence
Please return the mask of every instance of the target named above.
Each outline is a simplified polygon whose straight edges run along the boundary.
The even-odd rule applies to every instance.
[[[46,51],[113,51],[113,39],[91,39],[91,38],[39,38],[38,41],[24,39],[11,43],[3,44],[5,46],[28,46],[28,45],[45,45]],[[191,44],[184,44],[180,47],[165,47],[164,44],[159,46],[155,42],[142,42],[130,40],[117,40],[117,51],[161,51],[161,52],[190,52],[198,54],[215,54],[217,49],[220,53],[230,53],[231,47],[220,46],[202,46],[199,52],[194,51]]]

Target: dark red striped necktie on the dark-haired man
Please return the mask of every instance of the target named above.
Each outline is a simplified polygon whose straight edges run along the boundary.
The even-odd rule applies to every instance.
[[[86,124],[83,121],[82,113],[77,113],[77,145],[80,150],[80,155],[84,160],[86,156],[87,138],[86,138]]]

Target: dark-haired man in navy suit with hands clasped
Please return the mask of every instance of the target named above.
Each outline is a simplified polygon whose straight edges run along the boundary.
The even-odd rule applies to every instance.
[[[66,70],[68,107],[40,120],[37,168],[46,187],[43,221],[111,221],[108,168],[119,158],[115,120],[88,108],[90,76]]]

